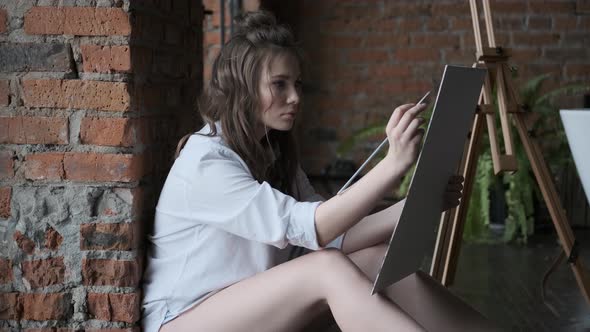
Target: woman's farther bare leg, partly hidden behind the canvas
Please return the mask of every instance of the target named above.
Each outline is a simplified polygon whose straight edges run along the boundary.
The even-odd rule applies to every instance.
[[[356,251],[350,259],[375,280],[387,246]],[[384,295],[428,331],[497,331],[489,320],[429,275],[418,271],[388,287]]]

